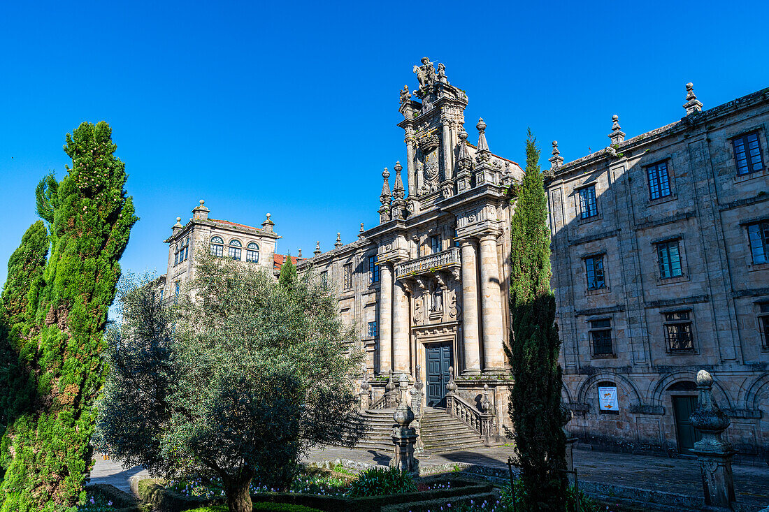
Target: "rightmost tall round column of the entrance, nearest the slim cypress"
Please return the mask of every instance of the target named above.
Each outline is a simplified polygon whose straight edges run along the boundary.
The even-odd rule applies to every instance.
[[[481,237],[481,321],[483,321],[484,371],[504,370],[502,301],[500,297],[497,235]]]

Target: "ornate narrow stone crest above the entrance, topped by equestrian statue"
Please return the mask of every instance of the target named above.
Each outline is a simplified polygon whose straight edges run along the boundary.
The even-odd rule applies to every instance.
[[[468,95],[449,84],[445,66],[424,57],[414,66],[419,88],[401,91],[398,126],[404,129],[409,214],[451,198],[455,191],[459,133],[464,125]],[[419,100],[419,101],[418,101]]]

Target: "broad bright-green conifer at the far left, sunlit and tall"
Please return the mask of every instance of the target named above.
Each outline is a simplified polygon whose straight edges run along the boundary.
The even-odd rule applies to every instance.
[[[66,142],[68,175],[38,187],[52,251],[28,331],[37,387],[31,407],[10,418],[2,441],[8,460],[2,512],[66,510],[85,497],[93,405],[105,378],[107,311],[120,277],[118,260],[137,221],[112,128],[104,121],[83,123]]]

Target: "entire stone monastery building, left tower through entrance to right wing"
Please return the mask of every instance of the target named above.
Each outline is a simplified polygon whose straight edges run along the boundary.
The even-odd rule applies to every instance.
[[[382,173],[378,226],[295,261],[361,333],[372,401],[406,374],[424,405],[443,407],[451,379],[455,404],[493,414],[502,441],[509,190],[523,171],[490,151],[482,119],[468,140],[468,96],[443,65],[423,58],[414,72],[419,87],[400,94],[406,158]],[[584,442],[686,452],[705,368],[731,441],[744,454],[769,447],[769,89],[701,107],[690,88],[681,121],[628,140],[615,118],[608,148],[568,164],[554,142],[545,176],[563,397]],[[253,228],[210,218],[203,201],[192,213],[166,240],[166,297],[191,277],[199,245],[277,276],[285,256],[269,214]]]

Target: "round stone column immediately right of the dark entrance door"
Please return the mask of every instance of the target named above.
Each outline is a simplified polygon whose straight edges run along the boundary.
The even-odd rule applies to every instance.
[[[478,285],[475,275],[475,248],[471,241],[460,242],[462,254],[462,352],[464,373],[481,373],[481,351],[478,346]]]

